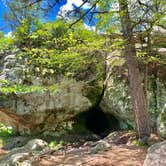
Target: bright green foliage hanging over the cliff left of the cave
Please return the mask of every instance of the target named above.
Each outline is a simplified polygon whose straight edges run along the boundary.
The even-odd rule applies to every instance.
[[[0,80],[2,93],[8,95],[57,91],[56,85],[31,85],[31,75],[41,79],[48,75],[50,77],[60,75],[81,80],[86,79],[91,73],[96,73],[96,80],[101,82],[103,64],[100,56],[102,49],[105,49],[105,40],[102,36],[85,29],[81,24],[69,29],[62,20],[41,23],[36,19],[34,25],[35,28],[31,31],[29,21],[23,19],[14,33],[14,44],[20,48],[17,54],[18,62],[25,65],[23,69],[25,84],[9,85],[5,80]],[[99,95],[101,88],[97,88],[96,92]],[[92,95],[92,98],[94,100],[96,96]]]

